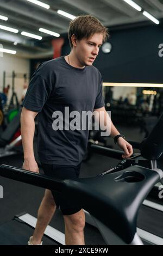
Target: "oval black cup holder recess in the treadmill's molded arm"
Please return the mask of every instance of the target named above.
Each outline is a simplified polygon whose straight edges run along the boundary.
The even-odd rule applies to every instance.
[[[145,179],[145,176],[139,172],[124,172],[121,176],[118,176],[115,181],[126,181],[128,183],[140,182]]]

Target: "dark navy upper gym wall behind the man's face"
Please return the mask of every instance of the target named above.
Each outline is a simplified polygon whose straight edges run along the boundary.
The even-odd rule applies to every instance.
[[[124,28],[110,31],[112,51],[99,51],[95,65],[101,71],[104,82],[163,83],[163,57],[159,57],[159,44],[163,44],[162,24]],[[68,54],[68,40],[62,47],[62,55]]]

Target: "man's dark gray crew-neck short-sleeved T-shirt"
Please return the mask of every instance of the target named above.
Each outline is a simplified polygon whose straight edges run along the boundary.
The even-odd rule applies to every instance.
[[[94,66],[73,68],[64,57],[44,62],[32,76],[23,106],[39,112],[40,161],[77,166],[83,160],[89,130],[54,130],[58,116],[54,118],[53,113],[60,111],[64,119],[65,107],[79,113],[103,107],[101,74]]]

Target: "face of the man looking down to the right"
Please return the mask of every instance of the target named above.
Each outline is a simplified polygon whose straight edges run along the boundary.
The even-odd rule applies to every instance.
[[[99,47],[103,43],[103,34],[96,33],[89,39],[77,40],[76,54],[77,58],[82,65],[91,66],[95,61]]]

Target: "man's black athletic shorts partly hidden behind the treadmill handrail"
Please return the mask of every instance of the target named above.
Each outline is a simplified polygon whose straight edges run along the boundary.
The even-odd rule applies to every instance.
[[[47,176],[53,176],[54,178],[64,180],[78,178],[81,163],[78,164],[78,166],[46,163],[41,163],[41,165],[43,172]],[[76,212],[82,209],[77,200],[67,197],[66,194],[62,194],[61,192],[57,191],[52,191],[52,194],[57,208],[60,208],[63,215],[76,214]]]

